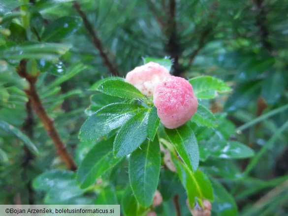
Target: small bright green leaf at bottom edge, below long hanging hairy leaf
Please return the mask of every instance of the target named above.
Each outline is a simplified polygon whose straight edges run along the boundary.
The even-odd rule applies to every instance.
[[[138,210],[138,203],[131,190],[130,185],[126,188],[123,199],[122,199],[122,207],[125,216],[136,216]]]

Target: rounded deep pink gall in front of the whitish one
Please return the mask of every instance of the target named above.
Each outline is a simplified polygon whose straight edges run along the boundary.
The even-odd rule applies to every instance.
[[[198,106],[192,85],[184,78],[168,76],[154,90],[154,105],[161,123],[169,129],[181,126]]]

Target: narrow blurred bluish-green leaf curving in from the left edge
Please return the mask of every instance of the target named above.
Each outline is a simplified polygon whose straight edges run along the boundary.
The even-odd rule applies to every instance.
[[[19,129],[14,127],[13,125],[6,123],[2,120],[0,120],[0,129],[12,133],[15,137],[17,137],[19,140],[21,140],[24,145],[33,153],[33,154],[39,154],[38,149],[36,146],[31,142],[28,136],[26,136],[24,133],[22,133]]]

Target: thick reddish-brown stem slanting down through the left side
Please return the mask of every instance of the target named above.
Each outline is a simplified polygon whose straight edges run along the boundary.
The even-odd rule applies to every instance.
[[[57,153],[61,156],[62,160],[64,161],[64,163],[66,164],[69,170],[73,170],[73,171],[76,170],[77,169],[76,164],[74,163],[71,155],[67,153],[66,145],[62,142],[54,126],[53,119],[49,118],[49,116],[47,115],[47,112],[36,91],[35,83],[37,81],[37,78],[27,72],[25,60],[22,60],[20,62],[20,65],[16,68],[16,70],[19,76],[25,78],[30,84],[30,88],[25,90],[25,93],[27,94],[28,98],[31,100],[33,109],[38,115],[40,121],[43,123],[44,128],[47,131],[47,134],[54,142],[57,148]]]

